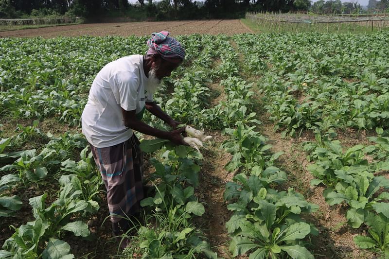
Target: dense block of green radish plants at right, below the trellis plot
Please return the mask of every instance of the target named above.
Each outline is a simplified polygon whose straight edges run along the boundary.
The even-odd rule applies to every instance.
[[[389,126],[388,33],[236,35],[283,136]]]

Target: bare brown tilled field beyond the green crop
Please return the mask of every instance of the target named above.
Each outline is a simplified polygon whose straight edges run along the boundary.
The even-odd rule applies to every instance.
[[[64,25],[36,29],[0,32],[0,37],[44,37],[57,36],[145,36],[154,32],[169,31],[172,35],[187,34],[240,34],[250,33],[240,20],[185,20],[185,21],[142,21],[117,23],[89,23]]]

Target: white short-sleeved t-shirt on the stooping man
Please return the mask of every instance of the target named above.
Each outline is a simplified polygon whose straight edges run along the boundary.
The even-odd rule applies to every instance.
[[[131,138],[132,130],[124,126],[122,108],[143,112],[149,79],[144,74],[142,55],[131,55],[108,63],[93,80],[88,103],[81,116],[82,132],[97,148],[117,145]]]

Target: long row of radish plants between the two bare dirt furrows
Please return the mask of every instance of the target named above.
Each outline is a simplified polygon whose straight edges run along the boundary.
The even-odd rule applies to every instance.
[[[238,70],[237,60],[237,53],[234,53],[227,62]],[[232,155],[226,169],[237,172],[224,192],[224,199],[229,202],[227,208],[233,211],[226,223],[232,256],[247,253],[250,259],[285,256],[313,259],[303,239],[309,234],[317,235],[318,230],[306,223],[301,214],[314,212],[318,206],[305,201],[293,188],[277,190],[277,185],[287,178],[286,173],[274,165],[282,153],[271,154],[271,145],[256,131],[256,125],[261,122],[250,112],[252,84],[239,77],[229,77],[222,84],[227,94],[226,103],[236,103],[247,110],[240,117],[230,118],[236,126],[223,130],[230,138],[221,146]]]

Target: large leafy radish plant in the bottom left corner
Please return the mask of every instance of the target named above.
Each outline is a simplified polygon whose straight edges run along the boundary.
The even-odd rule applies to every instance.
[[[63,231],[72,232],[77,237],[87,237],[90,233],[88,224],[71,219],[77,213],[95,213],[99,205],[92,200],[80,199],[82,188],[77,177],[60,185],[58,199],[48,207],[47,194],[29,199],[35,221],[18,227],[12,237],[4,242],[2,248],[5,250],[1,253],[7,255],[5,258],[74,258],[70,254],[69,244],[57,238]]]

